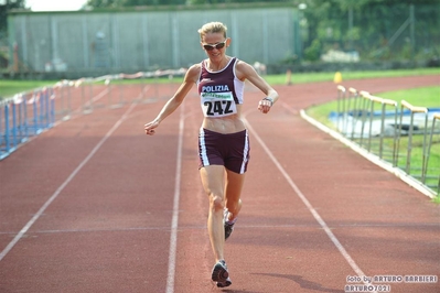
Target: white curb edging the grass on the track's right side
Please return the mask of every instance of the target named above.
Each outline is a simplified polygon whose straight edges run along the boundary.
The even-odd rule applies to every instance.
[[[352,142],[351,140],[348,140],[346,138],[344,138],[341,133],[339,133],[339,132],[328,128],[326,126],[320,123],[319,121],[314,120],[313,118],[311,118],[310,116],[308,116],[305,113],[304,109],[300,110],[300,115],[309,123],[311,123],[314,127],[319,128],[323,132],[332,135],[333,138],[335,138],[340,142],[344,143],[345,145],[350,146],[356,153],[358,153],[362,156],[366,158],[368,161],[373,162],[374,164],[376,164],[376,165],[380,166],[382,169],[385,169],[386,171],[393,173],[398,178],[400,178],[401,181],[406,182],[407,184],[409,184],[410,186],[412,186],[414,188],[416,188],[420,193],[425,194],[426,196],[428,196],[430,198],[434,198],[437,196],[437,193],[434,191],[432,191],[431,188],[422,185],[419,181],[417,181],[416,178],[409,176],[403,170],[393,166],[393,164],[390,164],[389,162],[380,160],[377,155],[372,154],[372,153],[367,152],[366,150],[362,149],[361,146],[358,146],[358,144]]]

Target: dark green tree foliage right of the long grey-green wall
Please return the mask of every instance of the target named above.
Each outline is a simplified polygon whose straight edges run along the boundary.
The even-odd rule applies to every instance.
[[[307,39],[303,40],[304,53],[308,53],[305,57],[316,57],[318,50],[321,50],[320,53],[329,50],[357,51],[364,59],[409,59],[417,54],[438,55],[438,44],[436,48],[434,43],[440,37],[439,0],[302,2],[307,4],[307,9],[302,10],[307,20],[303,28],[307,30]]]

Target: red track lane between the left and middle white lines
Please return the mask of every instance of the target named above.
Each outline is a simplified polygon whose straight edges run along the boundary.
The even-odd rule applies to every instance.
[[[161,106],[142,107],[147,115],[135,112],[124,120],[0,263],[1,290],[164,291],[167,269],[159,268],[168,261],[163,243],[170,239],[173,184],[160,178],[175,172],[175,130],[170,119],[161,135],[146,143],[144,119]],[[127,108],[110,113],[96,110],[93,115],[100,119],[90,123],[95,129],[90,135],[106,128],[112,113]],[[64,131],[60,126],[52,135]],[[164,145],[169,146],[164,150]],[[164,164],[159,150],[172,160]],[[67,148],[64,151],[68,153]]]

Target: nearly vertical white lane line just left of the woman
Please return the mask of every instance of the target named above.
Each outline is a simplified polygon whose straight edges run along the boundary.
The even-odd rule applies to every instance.
[[[175,276],[175,254],[178,247],[178,228],[179,228],[179,200],[180,200],[180,183],[182,170],[182,145],[183,145],[183,130],[184,121],[184,102],[180,106],[179,120],[179,142],[178,142],[178,158],[175,165],[175,183],[174,183],[174,203],[173,217],[171,220],[171,236],[170,236],[170,252],[168,258],[168,276],[167,276],[167,293],[174,292],[174,276]]]

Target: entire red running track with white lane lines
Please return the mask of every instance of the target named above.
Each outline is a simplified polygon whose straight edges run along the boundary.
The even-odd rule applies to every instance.
[[[376,95],[439,80],[344,86]],[[232,286],[210,280],[197,98],[146,137],[165,99],[139,102],[126,88],[137,102],[75,116],[0,162],[0,292],[344,292],[363,276],[438,279],[440,207],[299,116],[335,99],[334,84],[277,89],[266,116],[261,95],[246,94],[251,159],[226,245]],[[440,292],[438,280],[373,284]]]

